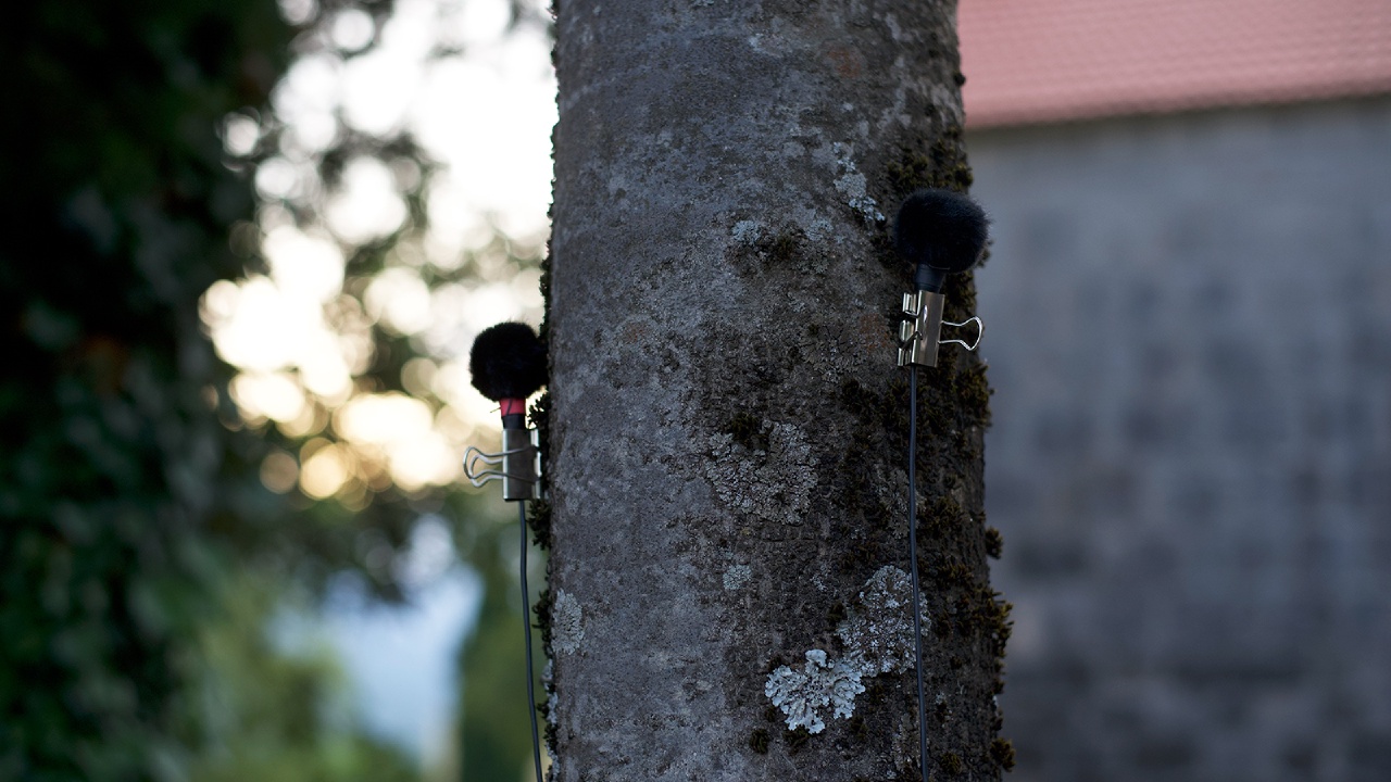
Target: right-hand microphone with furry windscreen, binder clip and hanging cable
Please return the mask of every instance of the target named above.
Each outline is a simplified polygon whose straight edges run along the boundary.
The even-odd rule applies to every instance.
[[[947,298],[942,294],[947,274],[958,274],[981,260],[989,238],[985,212],[970,196],[944,191],[922,189],[908,196],[899,209],[893,227],[893,244],[899,253],[915,266],[912,281],[915,294],[903,295],[904,321],[899,326],[899,366],[908,367],[908,561],[912,575],[912,641],[917,653],[918,676],[918,767],[922,782],[928,782],[928,700],[922,686],[922,608],[918,591],[918,367],[938,366],[938,346],[956,342],[968,351],[981,344],[985,331],[979,317],[975,342],[942,340],[942,312]]]

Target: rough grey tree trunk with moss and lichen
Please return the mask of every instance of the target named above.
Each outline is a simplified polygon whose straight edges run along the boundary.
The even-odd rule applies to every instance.
[[[954,13],[559,4],[552,504],[534,519],[556,779],[918,774],[894,366],[910,269],[885,217],[918,186],[970,185]],[[946,294],[949,320],[974,309],[968,274]],[[992,779],[1013,750],[989,391],[956,348],[921,388],[929,764]]]

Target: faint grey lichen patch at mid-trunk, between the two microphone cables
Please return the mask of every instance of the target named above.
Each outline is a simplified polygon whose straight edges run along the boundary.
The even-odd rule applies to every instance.
[[[727,433],[712,434],[705,477],[730,508],[754,516],[801,523],[817,487],[818,459],[801,429],[790,423],[762,423],[768,449],[750,449]]]

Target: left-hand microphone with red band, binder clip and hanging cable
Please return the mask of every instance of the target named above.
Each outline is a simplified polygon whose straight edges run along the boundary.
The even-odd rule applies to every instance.
[[[484,454],[469,447],[463,473],[469,483],[502,481],[502,498],[517,502],[522,533],[522,630],[526,633],[526,696],[531,715],[531,761],[537,782],[541,774],[541,739],[536,728],[536,685],[531,664],[531,596],[526,586],[526,501],[541,498],[541,448],[537,431],[526,426],[526,399],[545,385],[545,345],[524,323],[498,323],[484,328],[469,351],[473,387],[502,408],[502,451]],[[501,466],[502,469],[495,469]]]

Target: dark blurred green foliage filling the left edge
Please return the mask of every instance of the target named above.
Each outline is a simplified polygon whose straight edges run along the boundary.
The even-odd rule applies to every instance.
[[[277,661],[268,598],[231,580],[351,566],[359,533],[287,523],[198,317],[255,206],[216,129],[266,104],[292,35],[274,0],[42,0],[0,25],[0,779],[406,778],[306,711],[324,665]]]

